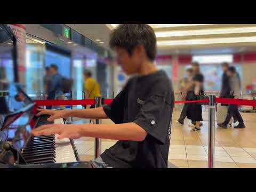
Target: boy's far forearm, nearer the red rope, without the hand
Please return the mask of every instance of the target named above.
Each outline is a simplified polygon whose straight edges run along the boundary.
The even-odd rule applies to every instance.
[[[78,118],[90,118],[90,119],[105,119],[108,118],[103,107],[94,109],[73,109],[67,110],[67,116]]]

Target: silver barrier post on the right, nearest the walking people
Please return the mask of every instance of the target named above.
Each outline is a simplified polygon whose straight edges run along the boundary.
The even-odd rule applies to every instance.
[[[215,95],[209,95],[208,167],[214,167]]]

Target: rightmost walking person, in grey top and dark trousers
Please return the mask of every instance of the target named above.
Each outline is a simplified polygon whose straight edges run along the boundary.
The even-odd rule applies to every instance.
[[[231,93],[233,93],[234,98],[237,99],[240,97],[241,81],[235,67],[229,67],[227,70],[227,75],[229,76],[229,85]],[[243,118],[238,111],[237,105],[228,106],[228,114],[226,116],[226,119],[223,123],[219,123],[218,126],[226,129],[231,117],[233,117],[234,115],[236,116],[237,121],[239,122],[239,124],[237,126],[234,126],[234,128],[245,128]]]

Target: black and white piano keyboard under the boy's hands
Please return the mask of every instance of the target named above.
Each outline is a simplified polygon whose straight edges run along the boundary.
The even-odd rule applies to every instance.
[[[39,118],[37,127],[44,124],[53,124],[47,122],[49,116],[42,115]],[[63,124],[63,119],[55,119],[55,124]],[[58,135],[35,136],[31,137],[21,154],[28,164],[42,163],[68,163],[77,162],[75,156],[76,150],[71,144],[72,140],[68,138],[58,139]]]

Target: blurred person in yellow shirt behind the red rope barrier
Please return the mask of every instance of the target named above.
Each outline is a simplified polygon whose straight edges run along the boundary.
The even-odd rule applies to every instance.
[[[84,70],[84,90],[86,99],[94,99],[95,97],[100,97],[100,85],[92,78],[92,73],[89,70]],[[94,105],[90,106],[90,109],[94,108]],[[95,123],[94,120],[90,120]]]

